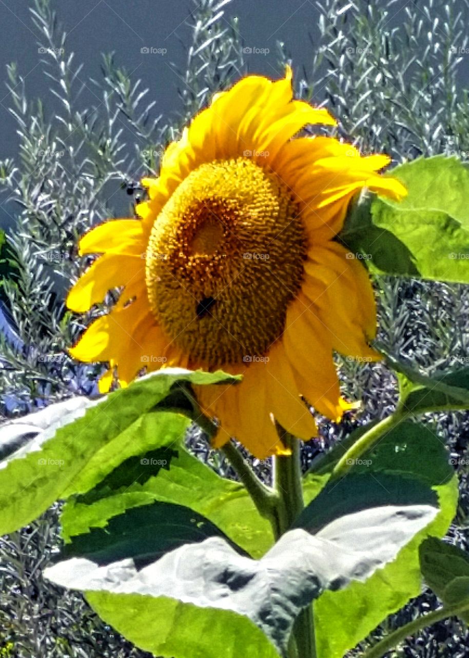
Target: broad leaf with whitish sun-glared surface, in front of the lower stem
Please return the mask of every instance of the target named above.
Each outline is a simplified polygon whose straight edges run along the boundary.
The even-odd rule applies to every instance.
[[[386,505],[336,519],[315,536],[302,529],[290,530],[259,561],[240,555],[216,528],[204,522],[208,538],[180,545],[148,564],[154,532],[146,534],[145,508],[140,511],[135,532],[141,536],[143,530],[143,544],[129,538],[131,522],[125,522],[124,515],[109,528],[109,538],[101,534],[97,540],[84,540],[85,551],[96,549],[87,553],[92,559],[75,557],[58,563],[46,570],[46,577],[86,592],[150,594],[200,608],[229,609],[252,620],[282,655],[286,655],[294,620],[303,607],[324,589],[343,588],[353,579],[367,578],[393,559],[399,548],[437,513],[429,505]],[[185,511],[185,528],[190,514]],[[150,517],[149,522],[152,524]],[[162,528],[163,540],[153,539],[155,554],[171,545],[172,532],[179,541],[179,528],[169,521]],[[194,538],[192,527],[188,536]],[[136,554],[129,559],[132,551]],[[113,553],[123,559],[107,564]],[[105,567],[101,566],[103,562]],[[112,617],[107,619],[112,625],[116,623]],[[158,623],[158,617],[154,617],[155,636]],[[239,658],[244,658],[244,653]]]

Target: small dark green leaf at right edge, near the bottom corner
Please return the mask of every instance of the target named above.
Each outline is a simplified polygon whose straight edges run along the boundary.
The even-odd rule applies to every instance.
[[[424,580],[443,603],[469,602],[469,553],[435,537],[422,542],[419,553]],[[469,621],[469,613],[460,616]]]

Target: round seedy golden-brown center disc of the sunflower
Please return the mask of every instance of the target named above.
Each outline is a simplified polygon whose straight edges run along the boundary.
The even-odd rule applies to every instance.
[[[154,222],[146,288],[158,323],[199,365],[252,361],[282,335],[303,276],[298,207],[245,158],[202,164]]]

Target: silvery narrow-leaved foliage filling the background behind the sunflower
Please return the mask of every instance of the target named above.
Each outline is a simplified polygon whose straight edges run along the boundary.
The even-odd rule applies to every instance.
[[[248,72],[238,32],[242,14],[239,26],[221,20],[228,2],[193,0],[187,19],[192,40],[181,45],[187,66],[181,71],[178,114],[169,121],[155,116],[154,104],[146,100],[156,90],[145,95],[141,82],[131,80],[111,55],[104,55],[102,78],[93,81],[102,104],[81,107],[79,81],[85,73],[68,51],[54,0],[32,1],[32,22],[46,50],[41,62],[45,87],[54,107],[59,101],[59,110],[51,116],[46,95],[44,101],[30,99],[16,66],[7,68],[19,147],[15,161],[0,162],[0,193],[10,200],[15,219],[1,250],[8,272],[0,288],[4,417],[95,393],[99,367],[76,365],[65,351],[92,313],[100,312],[77,319],[64,307],[66,290],[85,264],[77,258],[76,239],[114,215],[116,203],[127,199],[131,212],[143,194],[140,176],[158,170],[166,143],[177,138],[212,93]],[[406,3],[404,9],[397,0],[319,0],[316,5],[319,38],[311,26],[311,58],[301,66],[294,62],[298,96],[326,104],[340,118],[338,134],[365,152],[384,150],[396,162],[436,153],[468,159],[469,95],[460,84],[468,0],[425,0],[418,6]],[[288,44],[279,43],[278,53],[277,61],[271,53],[271,64],[280,72],[288,61]],[[119,60],[125,61],[125,53]],[[124,141],[122,122],[133,143]],[[467,365],[469,295],[463,286],[380,278],[376,290],[380,338],[391,351],[423,369]],[[383,417],[395,404],[393,375],[383,365],[347,359],[338,364],[344,393],[362,399],[364,411],[348,414],[340,426],[324,422],[319,441],[303,448],[304,468],[355,426]],[[469,418],[452,413],[432,415],[428,422],[439,425],[460,472],[460,509],[451,536],[467,547]],[[190,430],[188,443],[217,472],[233,476],[199,430]],[[268,461],[254,460],[254,466],[269,480]],[[43,580],[59,542],[57,512],[53,507],[21,532],[0,539],[0,655],[144,658],[148,654],[106,626],[80,595]],[[422,594],[386,620],[364,646],[436,605],[433,595]],[[468,641],[462,625],[447,620],[391,655],[462,658]]]

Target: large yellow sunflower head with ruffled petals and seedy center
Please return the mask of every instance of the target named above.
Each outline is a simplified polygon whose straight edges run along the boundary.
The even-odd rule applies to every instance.
[[[326,109],[293,99],[292,71],[248,76],[217,93],[173,141],[160,176],[144,178],[138,218],[100,224],[79,252],[100,254],[68,295],[72,311],[122,288],[70,351],[105,361],[101,392],[143,368],[243,374],[236,386],[196,390],[219,420],[215,446],[235,436],[256,457],[285,453],[273,419],[294,436],[317,434],[309,407],[338,420],[333,353],[376,359],[374,295],[365,268],[334,238],[347,205],[369,188],[393,199],[386,155],[361,156],[326,136]]]

